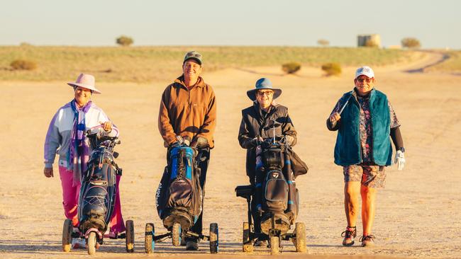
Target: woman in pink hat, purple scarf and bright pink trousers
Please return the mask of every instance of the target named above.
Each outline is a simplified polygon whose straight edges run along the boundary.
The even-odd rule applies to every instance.
[[[91,147],[84,131],[101,125],[110,135],[118,135],[117,127],[112,124],[106,113],[91,101],[93,93],[101,93],[94,83],[94,76],[90,74],[80,74],[75,82],[67,83],[74,88],[74,96],[52,117],[45,139],[43,174],[47,178],[54,177],[52,163],[58,154],[62,205],[65,217],[72,220],[74,228],[79,225],[77,205],[81,174],[86,169],[91,154]],[[125,231],[118,194],[119,181],[120,175],[117,175],[116,205],[111,219],[111,231],[115,234]],[[84,247],[84,244],[82,245]]]

